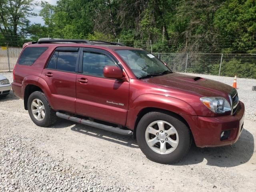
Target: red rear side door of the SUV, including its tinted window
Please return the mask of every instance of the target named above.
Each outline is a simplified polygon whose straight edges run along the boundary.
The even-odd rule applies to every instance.
[[[51,90],[55,110],[75,113],[76,74],[79,60],[78,47],[56,48],[43,70],[41,78]]]

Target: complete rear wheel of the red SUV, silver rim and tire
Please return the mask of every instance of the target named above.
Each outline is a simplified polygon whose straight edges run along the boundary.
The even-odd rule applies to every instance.
[[[51,108],[44,93],[36,91],[28,97],[28,114],[34,124],[47,127],[57,120],[56,112]]]

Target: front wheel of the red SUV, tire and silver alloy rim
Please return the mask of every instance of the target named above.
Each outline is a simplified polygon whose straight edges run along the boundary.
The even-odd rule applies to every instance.
[[[149,112],[140,119],[136,138],[146,157],[162,164],[179,162],[192,143],[188,126],[178,116],[161,112]]]

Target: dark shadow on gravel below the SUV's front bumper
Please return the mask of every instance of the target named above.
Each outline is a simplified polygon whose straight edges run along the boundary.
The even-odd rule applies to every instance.
[[[254,138],[244,129],[238,141],[231,146],[198,148],[192,144],[188,155],[176,165],[198,164],[206,159],[206,164],[210,166],[234,167],[248,162],[253,152]]]

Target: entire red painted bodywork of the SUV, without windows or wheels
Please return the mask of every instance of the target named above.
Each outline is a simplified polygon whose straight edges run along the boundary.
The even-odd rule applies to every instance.
[[[125,46],[88,44],[26,44],[48,49],[31,66],[15,68],[14,94],[24,98],[27,85],[41,88],[54,110],[61,110],[112,122],[134,130],[138,114],[145,108],[158,108],[179,114],[188,123],[197,146],[222,146],[236,142],[243,125],[244,104],[239,102],[234,115],[210,111],[200,98],[222,96],[229,100],[231,86],[184,74],[166,74],[137,79],[115,50],[136,49]],[[123,80],[45,69],[57,47],[86,47],[112,54],[127,76]],[[138,49],[136,49],[138,50]],[[45,74],[52,75],[46,76]],[[227,140],[220,141],[222,130],[231,130]]]

